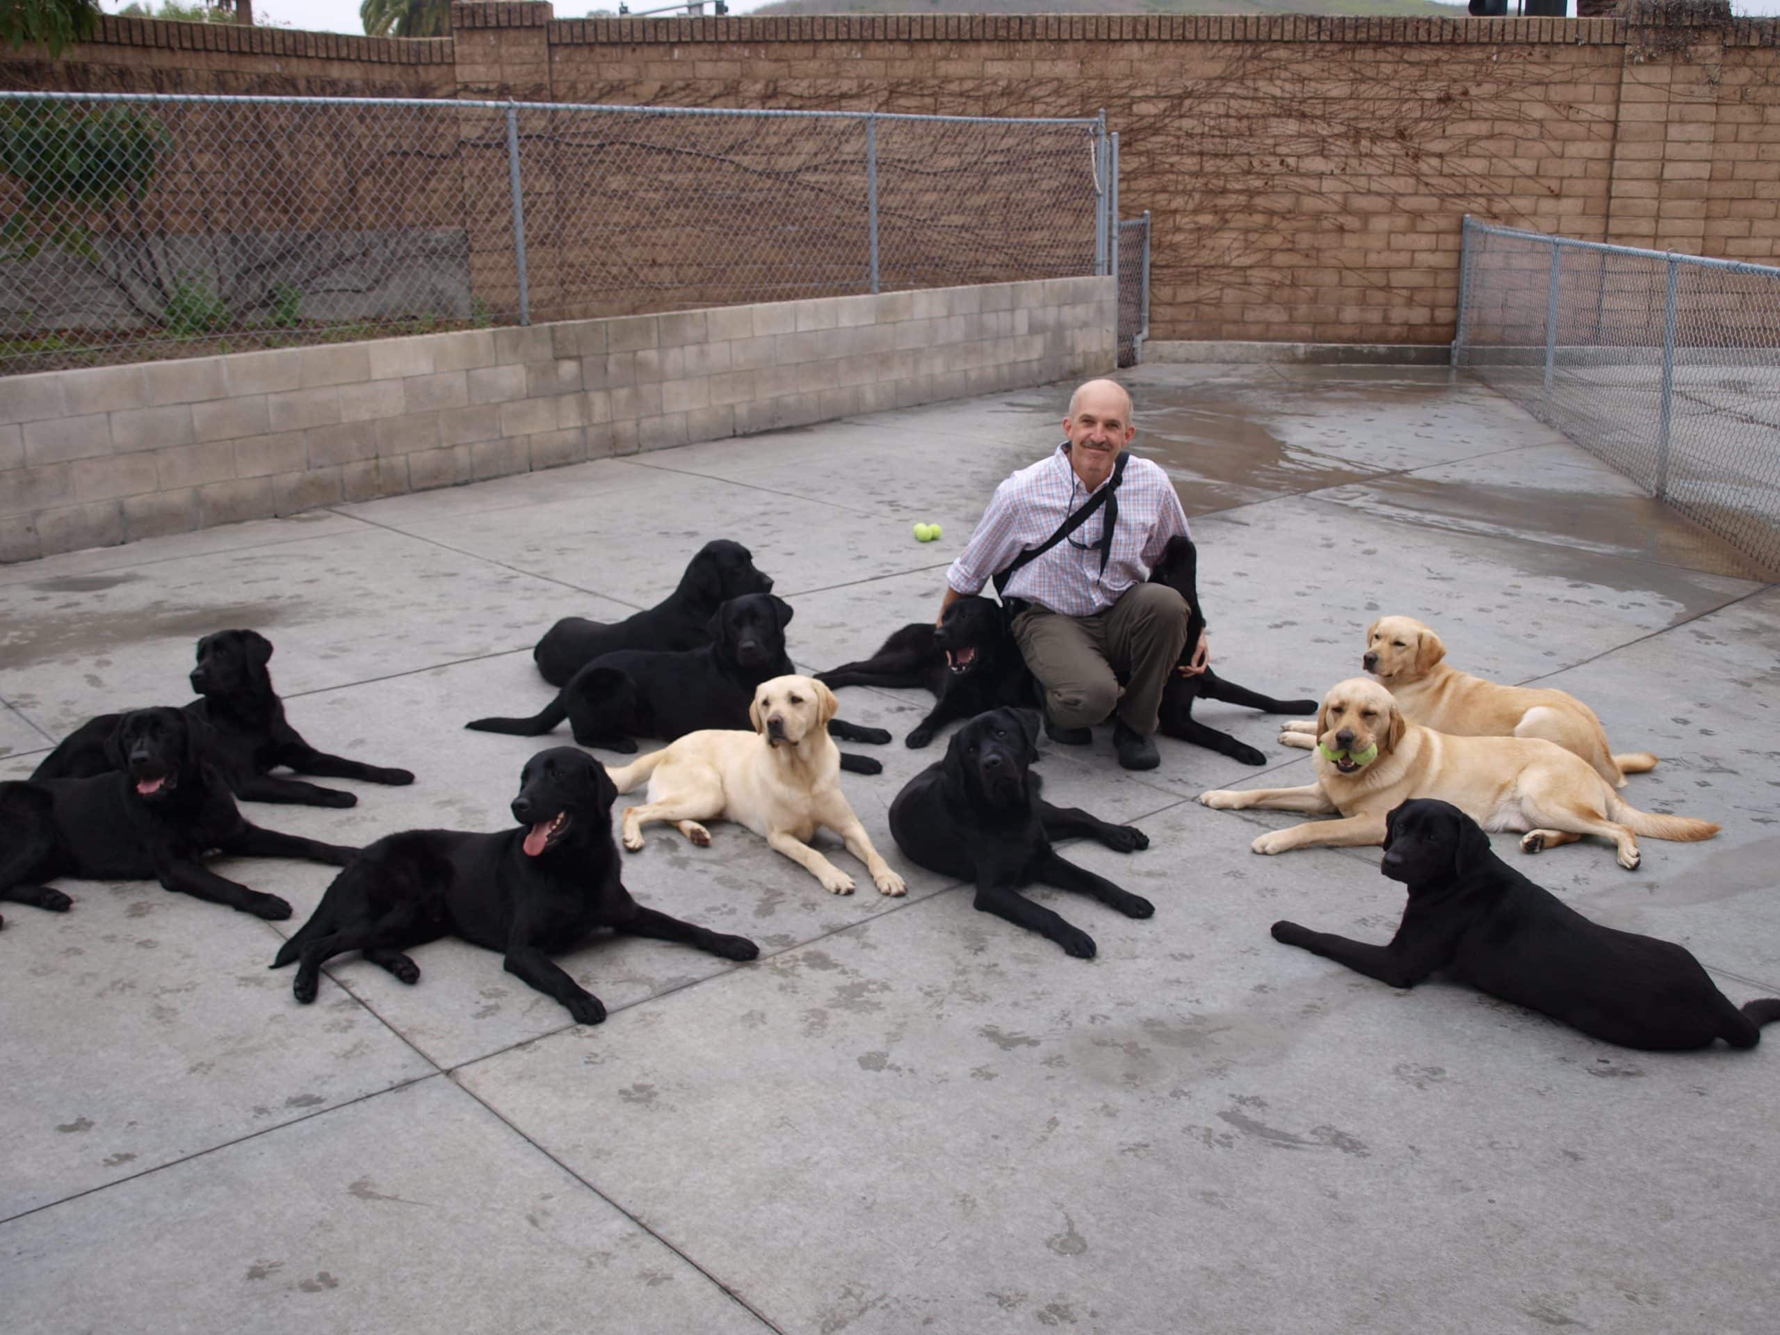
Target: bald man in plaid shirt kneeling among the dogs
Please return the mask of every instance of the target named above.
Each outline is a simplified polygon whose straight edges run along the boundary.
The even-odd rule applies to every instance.
[[[1155,769],[1162,685],[1187,635],[1187,603],[1146,580],[1168,539],[1187,534],[1187,516],[1168,473],[1125,454],[1137,434],[1130,413],[1116,381],[1070,395],[1066,440],[995,488],[945,571],[940,614],[993,578],[1043,689],[1045,732],[1086,746],[1089,728],[1111,717],[1118,762]],[[1191,671],[1203,668],[1202,637]]]

